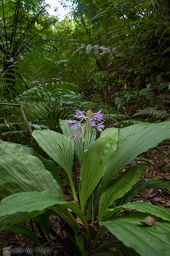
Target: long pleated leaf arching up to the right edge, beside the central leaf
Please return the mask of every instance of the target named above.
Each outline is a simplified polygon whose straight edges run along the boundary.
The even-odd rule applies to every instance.
[[[114,175],[140,153],[170,138],[170,121],[160,123],[139,123],[119,131],[116,153],[110,161],[101,181],[104,191]]]

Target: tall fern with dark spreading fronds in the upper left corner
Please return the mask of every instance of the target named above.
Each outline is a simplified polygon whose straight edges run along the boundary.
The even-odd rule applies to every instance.
[[[56,19],[48,15],[47,6],[44,0],[3,0],[0,2],[2,21],[0,23],[0,58],[3,71],[1,79],[3,79],[3,94],[6,95],[8,101],[14,102],[16,96],[29,88],[28,82],[30,82],[31,74],[24,77],[28,63],[32,60],[34,62],[40,60],[40,58],[37,59],[37,52],[49,51],[50,42],[54,41],[50,34],[52,34],[51,26],[54,25]],[[54,52],[57,47],[53,45],[51,49]],[[32,50],[34,50],[32,55],[28,54],[23,57]],[[23,58],[24,61],[20,61]]]

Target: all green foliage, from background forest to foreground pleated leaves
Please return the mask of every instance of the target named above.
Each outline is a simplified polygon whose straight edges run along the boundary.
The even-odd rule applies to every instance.
[[[0,1],[0,229],[23,233],[39,246],[34,232],[19,224],[34,218],[55,254],[49,215],[57,215],[71,227],[69,239],[76,244],[73,255],[114,255],[102,254],[106,246],[98,243],[108,229],[121,241],[108,247],[117,247],[125,256],[148,251],[160,255],[162,246],[167,256],[166,236],[161,247],[159,238],[151,241],[155,234],[170,230],[169,212],[128,199],[141,190],[169,189],[170,185],[159,181],[137,185],[146,164],[113,177],[138,154],[170,137],[170,3],[59,2],[70,10],[62,21],[48,14],[45,0]],[[101,108],[105,131],[95,141],[96,132],[87,130],[85,140],[88,113],[99,113]],[[74,110],[87,113],[86,125],[79,126],[80,143],[77,131],[68,126],[76,123]],[[99,131],[104,128],[94,120],[91,124]],[[76,157],[81,170],[80,181],[74,184]],[[77,205],[65,200],[58,172],[68,179]],[[139,213],[121,216],[122,209]],[[143,227],[145,212],[161,221]],[[136,218],[142,224],[134,225]],[[151,245],[146,243],[143,249],[148,228],[153,234],[147,236]],[[138,240],[136,233],[141,234]]]

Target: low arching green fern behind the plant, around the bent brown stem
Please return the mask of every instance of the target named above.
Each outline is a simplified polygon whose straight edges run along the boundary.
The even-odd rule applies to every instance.
[[[50,128],[53,131],[60,131],[59,119],[72,118],[73,110],[77,106],[84,109],[92,106],[91,102],[85,101],[83,95],[67,89],[75,87],[76,85],[67,82],[40,84],[15,97],[15,102],[22,105],[33,130]],[[30,144],[31,140],[20,108],[2,105],[0,108],[4,140],[25,143],[27,141],[26,144]],[[15,140],[13,136],[16,137]],[[29,137],[29,140],[25,136]]]

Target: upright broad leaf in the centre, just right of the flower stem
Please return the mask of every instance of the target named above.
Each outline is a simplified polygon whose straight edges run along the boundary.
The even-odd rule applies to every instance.
[[[82,182],[79,189],[81,207],[85,207],[88,197],[105,173],[115,154],[117,140],[117,129],[109,128],[100,134],[99,139],[86,148],[84,163],[81,167]]]

